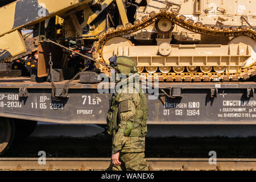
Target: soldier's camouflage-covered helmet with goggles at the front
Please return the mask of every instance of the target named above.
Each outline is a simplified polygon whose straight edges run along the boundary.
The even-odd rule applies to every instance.
[[[110,66],[117,69],[119,73],[129,76],[129,73],[137,73],[137,64],[133,59],[127,56],[114,55],[109,59]]]

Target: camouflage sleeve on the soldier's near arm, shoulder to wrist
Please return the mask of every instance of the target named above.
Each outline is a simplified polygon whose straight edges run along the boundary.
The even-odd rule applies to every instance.
[[[121,93],[121,96],[119,97],[119,105],[123,104],[124,109],[120,109],[120,120],[122,121],[118,125],[118,129],[125,130],[126,128],[126,122],[127,121],[134,121],[135,117],[135,111],[136,111],[136,102],[134,102],[134,98],[136,94],[130,94],[130,93]],[[126,108],[127,105],[127,108]],[[117,151],[121,151],[123,146],[125,145],[126,141],[128,140],[128,137],[125,137],[125,135],[117,131],[117,133],[113,137],[112,141],[112,149],[115,149]]]

